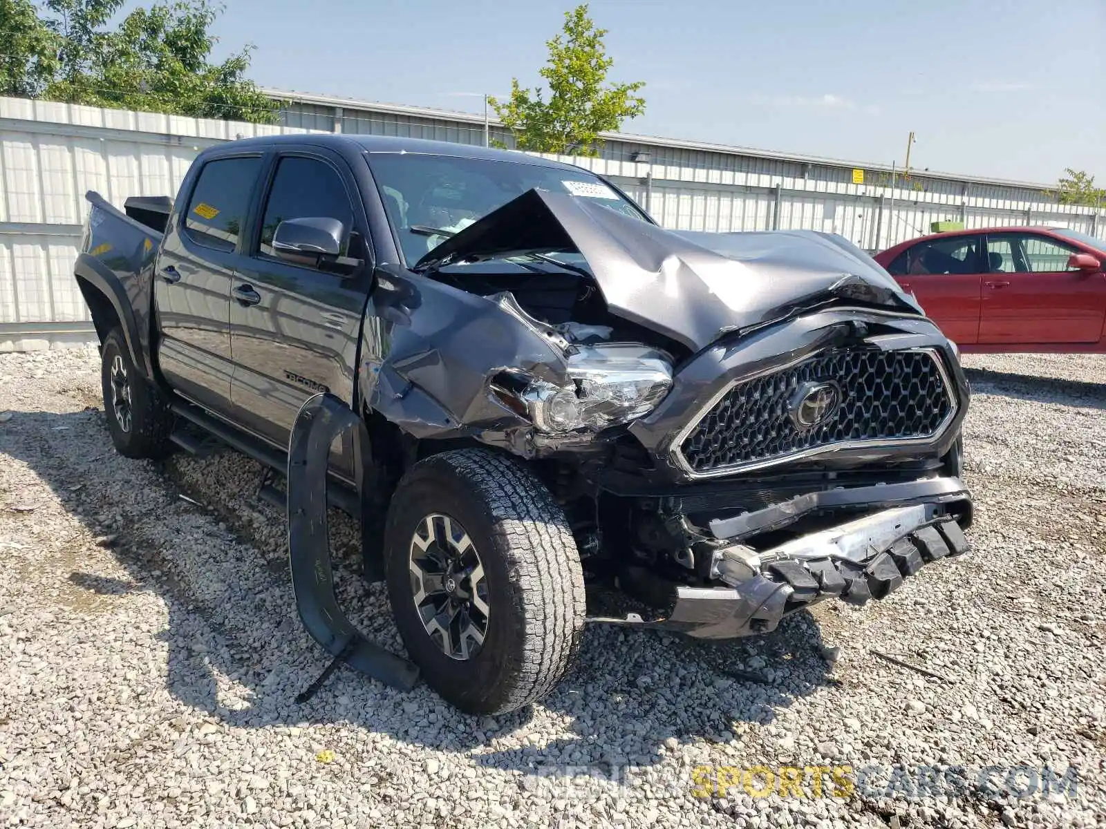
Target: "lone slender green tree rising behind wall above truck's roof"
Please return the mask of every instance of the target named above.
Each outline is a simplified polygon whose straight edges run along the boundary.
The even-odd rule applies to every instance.
[[[524,88],[515,77],[505,102],[489,103],[520,149],[596,155],[603,146],[599,133],[618,129],[623,120],[645,112],[645,99],[636,94],[645,83],[608,85],[614,59],[603,44],[607,30],[595,28],[586,4],[564,17],[562,33],[546,42],[549,62],[540,71],[549,98],[540,86]]]

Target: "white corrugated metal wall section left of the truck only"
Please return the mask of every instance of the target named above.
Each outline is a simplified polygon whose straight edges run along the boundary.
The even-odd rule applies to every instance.
[[[87,202],[175,193],[205,147],[285,126],[0,97],[0,348],[87,339],[73,280]]]

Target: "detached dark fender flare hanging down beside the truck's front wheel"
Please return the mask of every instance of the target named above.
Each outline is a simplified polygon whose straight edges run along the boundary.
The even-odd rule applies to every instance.
[[[288,548],[292,590],[303,627],[334,657],[311,688],[296,697],[298,702],[310,700],[343,662],[401,691],[409,691],[418,681],[418,669],[368,641],[342,612],[334,595],[326,523],[326,469],[334,439],[358,422],[357,416],[336,397],[319,393],[300,408],[289,439]]]

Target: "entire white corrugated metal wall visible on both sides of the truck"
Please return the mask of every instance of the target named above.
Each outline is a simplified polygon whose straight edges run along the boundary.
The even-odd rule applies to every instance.
[[[213,143],[335,125],[483,143],[483,126],[471,116],[301,103],[290,105],[284,120],[267,127],[0,98],[0,348],[88,338],[88,313],[72,277],[86,190],[119,207],[129,196],[173,195],[197,153]],[[508,139],[498,128],[492,137]],[[556,158],[609,177],[662,225],[680,230],[818,230],[869,251],[927,233],[939,220],[969,228],[1052,222],[1106,238],[1106,214],[1056,204],[1032,186],[916,176],[897,177],[893,188],[881,170],[865,170],[857,185],[848,166],[662,139],[609,139],[597,158]]]

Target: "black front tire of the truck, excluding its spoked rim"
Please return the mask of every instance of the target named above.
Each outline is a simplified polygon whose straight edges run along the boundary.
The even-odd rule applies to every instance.
[[[459,522],[488,588],[488,629],[468,660],[447,655],[416,607],[413,536],[428,515]],[[385,529],[388,597],[407,652],[427,684],[472,714],[500,714],[549,694],[572,668],[584,627],[584,575],[561,507],[511,458],[461,449],[415,464],[399,482]]]

